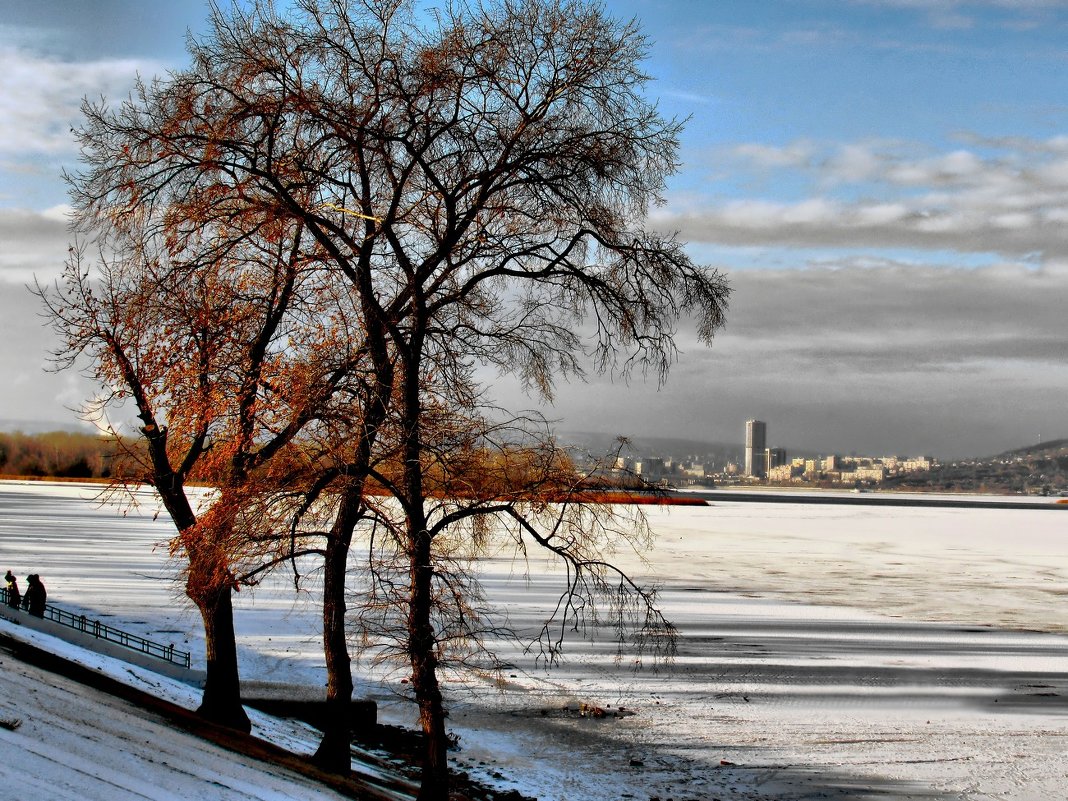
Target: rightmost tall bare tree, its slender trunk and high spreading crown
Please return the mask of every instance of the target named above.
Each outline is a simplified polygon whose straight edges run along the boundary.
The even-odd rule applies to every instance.
[[[321,10],[318,19],[333,21]],[[662,377],[680,315],[694,314],[710,337],[726,287],[676,240],[642,227],[675,167],[678,126],[641,93],[644,42],[633,27],[592,4],[543,0],[456,4],[429,28],[391,23],[402,30],[381,38],[377,113],[359,134],[374,183],[355,205],[376,218],[377,279],[396,287],[384,309],[403,449],[405,642],[427,742],[422,797],[437,799],[447,763],[436,580],[455,521],[427,506],[427,376],[480,359],[549,394],[591,343],[601,368]],[[348,30],[334,25],[331,35]],[[360,52],[356,44],[337,51]],[[540,536],[592,580],[585,586],[608,586],[598,577],[609,566],[586,550],[596,539],[572,549]]]

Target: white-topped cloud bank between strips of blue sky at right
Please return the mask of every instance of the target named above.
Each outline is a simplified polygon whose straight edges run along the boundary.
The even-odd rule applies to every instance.
[[[1059,138],[1014,139],[946,153],[901,142],[817,146],[741,144],[729,155],[759,186],[801,197],[669,204],[653,222],[727,247],[948,250],[1040,260],[1068,257],[1068,160]]]

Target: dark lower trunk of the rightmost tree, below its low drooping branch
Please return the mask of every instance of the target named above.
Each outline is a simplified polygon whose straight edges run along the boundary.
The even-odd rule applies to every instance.
[[[422,522],[422,521],[420,521]],[[411,657],[411,684],[419,703],[419,722],[423,728],[423,775],[419,801],[447,801],[449,740],[445,736],[445,709],[438,684],[438,659],[435,654],[434,626],[430,622],[431,581],[430,537],[425,525],[411,532],[414,547],[411,556],[411,600],[408,610],[408,642]]]

